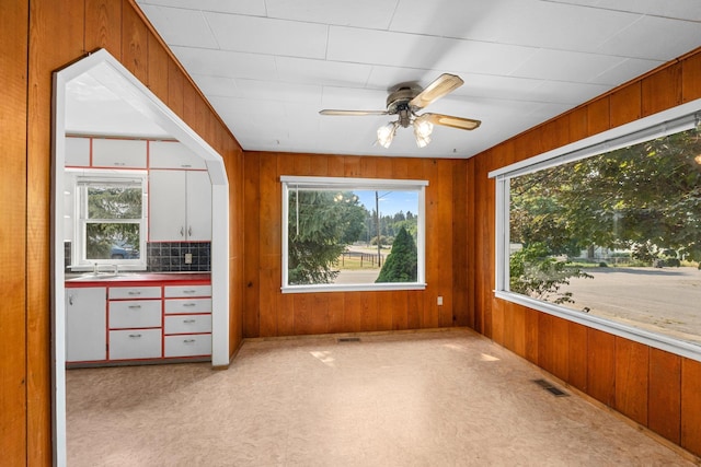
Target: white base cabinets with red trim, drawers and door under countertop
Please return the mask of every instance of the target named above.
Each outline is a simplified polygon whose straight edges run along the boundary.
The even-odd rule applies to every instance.
[[[110,283],[66,288],[70,365],[211,355],[211,285]]]

